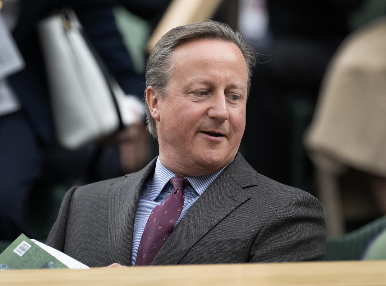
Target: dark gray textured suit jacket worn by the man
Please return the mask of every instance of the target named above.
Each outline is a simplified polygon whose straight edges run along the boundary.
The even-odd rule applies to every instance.
[[[90,267],[130,265],[139,194],[155,165],[154,159],[137,173],[71,188],[46,243]],[[315,197],[262,176],[237,154],[152,264],[318,260],[325,240]]]

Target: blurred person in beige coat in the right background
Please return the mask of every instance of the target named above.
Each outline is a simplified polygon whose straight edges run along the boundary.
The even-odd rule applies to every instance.
[[[386,215],[385,51],[385,15],[345,38],[305,132],[330,235]]]

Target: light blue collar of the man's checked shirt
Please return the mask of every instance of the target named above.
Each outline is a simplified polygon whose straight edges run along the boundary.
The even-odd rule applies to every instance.
[[[218,177],[218,175],[223,171],[221,170],[201,175],[201,176],[186,176],[184,178],[188,179],[189,183],[191,184],[191,187],[193,188],[196,193],[201,196],[203,192],[208,188],[210,184]],[[156,162],[156,169],[154,171],[153,181],[152,181],[152,187],[150,191],[150,200],[154,201],[157,196],[161,193],[164,186],[169,183],[170,179],[177,176],[172,171],[167,169],[160,161],[159,156],[157,157]]]

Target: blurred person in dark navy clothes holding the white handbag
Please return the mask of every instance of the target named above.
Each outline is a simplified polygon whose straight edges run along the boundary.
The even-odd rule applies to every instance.
[[[91,143],[76,151],[58,146],[37,24],[63,7],[72,7],[107,68],[125,93],[135,96],[138,102],[144,90],[144,75],[135,73],[117,30],[112,14],[114,1],[0,2],[4,23],[0,24],[1,42],[7,37],[19,63],[7,72],[0,66],[4,71],[0,73],[0,239],[13,240],[21,232],[39,238],[25,223],[26,205],[32,190],[40,188],[39,182],[72,184],[80,176],[85,182],[120,176],[142,168],[151,151],[140,109],[136,111],[142,118],[138,124],[117,134],[108,146]],[[9,50],[0,52],[4,56]],[[36,196],[43,200],[39,193]]]

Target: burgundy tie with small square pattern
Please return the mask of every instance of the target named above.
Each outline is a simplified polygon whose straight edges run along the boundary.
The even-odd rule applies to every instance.
[[[157,205],[150,212],[146,222],[141,242],[139,242],[135,265],[150,265],[165,240],[169,237],[181,215],[184,206],[184,186],[189,184],[187,179],[174,177],[170,179],[174,192],[166,200]]]

